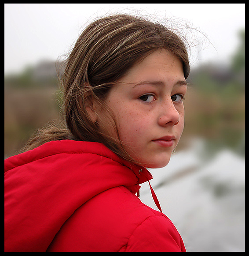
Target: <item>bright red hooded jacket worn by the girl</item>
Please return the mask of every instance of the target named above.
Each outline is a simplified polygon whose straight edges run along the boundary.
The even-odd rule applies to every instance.
[[[151,178],[94,142],[6,159],[5,252],[185,252],[172,222],[135,195]]]

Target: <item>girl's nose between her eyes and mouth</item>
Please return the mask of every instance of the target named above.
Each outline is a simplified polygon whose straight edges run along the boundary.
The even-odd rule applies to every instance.
[[[174,103],[172,100],[168,100],[167,103],[161,107],[161,111],[158,117],[158,124],[160,126],[166,126],[166,125],[176,125],[179,123],[180,120],[180,114],[178,110],[176,109]]]

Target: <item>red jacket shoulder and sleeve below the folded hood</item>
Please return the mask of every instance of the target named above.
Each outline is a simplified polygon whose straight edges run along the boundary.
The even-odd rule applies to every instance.
[[[71,241],[71,237],[78,239]],[[180,236],[172,222],[124,186],[110,188],[84,203],[57,239],[59,245],[70,241],[73,248],[85,252],[181,251]]]

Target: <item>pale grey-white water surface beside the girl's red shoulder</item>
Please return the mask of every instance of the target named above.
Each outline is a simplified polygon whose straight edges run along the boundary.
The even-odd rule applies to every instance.
[[[245,252],[245,158],[223,150],[203,160],[197,140],[150,182],[162,211],[183,237],[187,252]],[[140,199],[157,209],[147,182]]]

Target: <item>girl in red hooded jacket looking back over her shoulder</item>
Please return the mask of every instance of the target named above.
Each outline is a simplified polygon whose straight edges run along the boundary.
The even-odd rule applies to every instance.
[[[62,79],[67,128],[40,130],[5,162],[5,251],[185,252],[151,186],[160,212],[136,193],[179,142],[189,72],[165,26],[131,15],[90,24]]]

